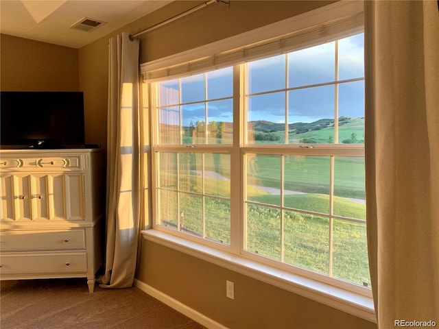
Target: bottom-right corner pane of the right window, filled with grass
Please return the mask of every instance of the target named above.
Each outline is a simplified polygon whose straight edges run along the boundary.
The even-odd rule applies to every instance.
[[[334,220],[333,276],[370,287],[366,224]]]

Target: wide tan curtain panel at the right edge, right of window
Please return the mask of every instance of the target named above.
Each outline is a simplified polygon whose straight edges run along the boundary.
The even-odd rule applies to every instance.
[[[438,3],[365,1],[364,15],[368,250],[378,325],[439,325]]]

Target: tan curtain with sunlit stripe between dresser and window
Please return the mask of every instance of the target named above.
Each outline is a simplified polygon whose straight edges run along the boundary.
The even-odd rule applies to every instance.
[[[106,267],[101,287],[132,287],[139,237],[139,40],[110,39]]]

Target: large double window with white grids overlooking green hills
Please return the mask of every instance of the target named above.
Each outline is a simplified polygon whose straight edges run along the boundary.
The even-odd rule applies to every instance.
[[[155,228],[370,285],[363,34],[154,82],[152,109]]]

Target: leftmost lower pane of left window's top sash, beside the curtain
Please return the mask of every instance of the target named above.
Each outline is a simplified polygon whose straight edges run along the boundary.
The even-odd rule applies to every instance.
[[[158,110],[158,143],[180,144],[180,111],[178,106]]]

